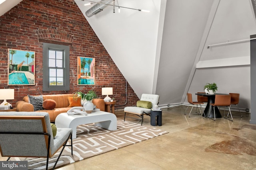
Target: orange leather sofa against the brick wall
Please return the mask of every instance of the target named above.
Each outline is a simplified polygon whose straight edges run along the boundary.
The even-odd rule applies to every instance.
[[[65,113],[72,107],[69,106],[68,97],[73,97],[74,94],[47,94],[43,95],[43,99],[52,99],[56,102],[56,106],[51,110],[38,110],[37,112],[48,112],[50,115],[50,121],[54,122],[57,115]],[[105,111],[105,102],[103,99],[96,98],[92,100],[92,103],[96,105],[96,108],[101,111]],[[28,103],[28,96],[24,96],[21,101],[16,102],[15,107],[17,111],[34,111],[34,106]]]

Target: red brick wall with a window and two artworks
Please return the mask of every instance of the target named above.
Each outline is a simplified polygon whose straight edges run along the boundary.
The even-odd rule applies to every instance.
[[[70,91],[43,92],[43,42],[70,46]],[[35,84],[8,86],[8,49],[35,51]],[[96,85],[77,85],[77,57],[96,59]],[[127,83],[128,84],[128,83]],[[0,17],[0,88],[14,88],[12,105],[28,94],[64,94],[113,87],[116,105],[126,103],[126,80],[82,15],[74,0],[23,0]],[[127,85],[125,106],[136,105],[138,97]],[[113,97],[110,96],[110,97]],[[123,108],[125,106],[117,106]]]

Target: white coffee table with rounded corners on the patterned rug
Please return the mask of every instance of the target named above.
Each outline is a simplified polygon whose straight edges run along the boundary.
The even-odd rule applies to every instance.
[[[87,115],[68,115],[67,113],[60,113],[55,119],[56,127],[71,128],[73,130],[72,139],[76,138],[76,127],[88,123],[95,123],[95,125],[114,131],[117,129],[116,115],[105,111],[96,111]]]

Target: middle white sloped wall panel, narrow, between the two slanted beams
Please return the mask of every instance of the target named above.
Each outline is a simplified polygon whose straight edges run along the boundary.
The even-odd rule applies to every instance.
[[[168,0],[156,94],[160,106],[181,104],[212,0]]]

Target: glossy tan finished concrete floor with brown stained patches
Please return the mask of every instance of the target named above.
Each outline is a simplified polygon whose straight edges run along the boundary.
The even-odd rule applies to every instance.
[[[213,121],[188,117],[185,109],[186,106],[162,109],[162,126],[157,128],[169,132],[165,135],[57,169],[256,170],[256,125],[249,123],[250,113],[242,113],[243,117],[236,117],[233,122],[223,117]],[[124,119],[123,111],[115,114]],[[143,125],[150,126],[149,116]]]

